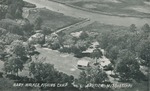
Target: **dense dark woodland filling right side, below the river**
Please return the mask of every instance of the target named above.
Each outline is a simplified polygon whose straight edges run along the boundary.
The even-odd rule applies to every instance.
[[[97,40],[115,66],[121,80],[148,80],[140,66],[150,65],[150,27],[138,29],[132,24],[127,31],[112,30],[102,33]],[[144,79],[143,79],[144,78]],[[145,79],[146,78],[146,79]]]

